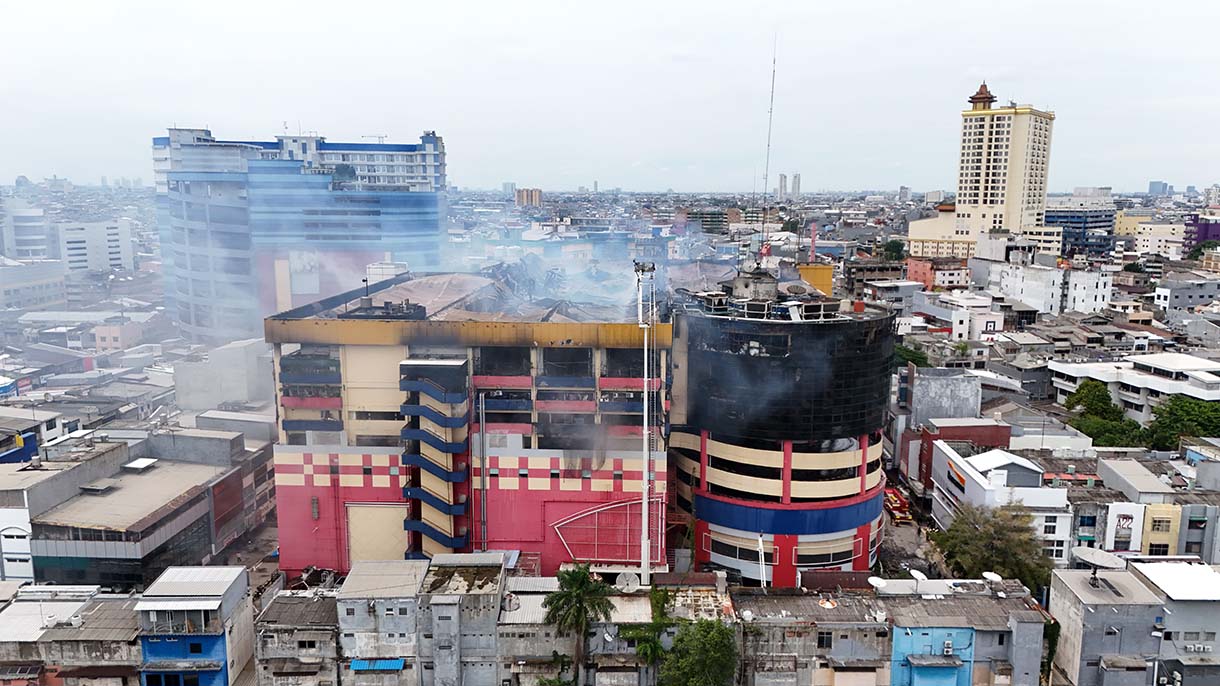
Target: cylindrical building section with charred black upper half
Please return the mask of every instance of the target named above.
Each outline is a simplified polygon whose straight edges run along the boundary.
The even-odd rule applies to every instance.
[[[683,294],[673,322],[670,453],[695,561],[775,586],[867,570],[883,522],[893,315],[800,291],[743,273]]]

